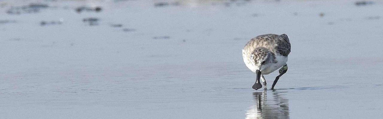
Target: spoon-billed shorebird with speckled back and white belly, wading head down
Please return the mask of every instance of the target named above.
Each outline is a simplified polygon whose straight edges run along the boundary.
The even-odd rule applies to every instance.
[[[287,57],[290,53],[290,40],[286,34],[265,34],[258,35],[246,43],[242,49],[243,61],[247,68],[257,74],[253,89],[262,88],[259,79],[262,79],[266,89],[266,79],[264,75],[279,69],[279,75],[275,78],[271,87],[274,90],[279,77],[286,73]]]

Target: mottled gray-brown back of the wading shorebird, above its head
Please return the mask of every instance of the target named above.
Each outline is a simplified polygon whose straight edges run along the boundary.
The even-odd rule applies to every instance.
[[[286,34],[265,34],[254,37],[246,43],[243,53],[249,56],[255,48],[264,47],[275,55],[288,56],[290,53],[290,40]]]

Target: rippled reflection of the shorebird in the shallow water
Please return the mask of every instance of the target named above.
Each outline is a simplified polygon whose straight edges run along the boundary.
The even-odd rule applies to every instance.
[[[246,119],[290,119],[288,99],[283,92],[272,92],[267,97],[266,91],[253,93],[254,105],[246,112]]]

